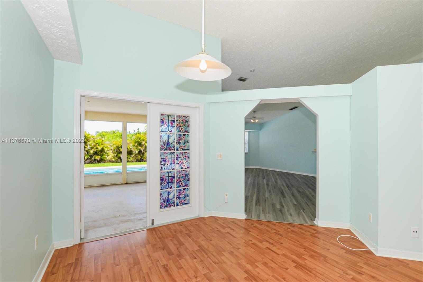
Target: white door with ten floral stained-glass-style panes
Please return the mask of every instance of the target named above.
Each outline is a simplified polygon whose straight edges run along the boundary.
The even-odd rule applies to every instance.
[[[199,215],[199,109],[148,105],[148,225]]]

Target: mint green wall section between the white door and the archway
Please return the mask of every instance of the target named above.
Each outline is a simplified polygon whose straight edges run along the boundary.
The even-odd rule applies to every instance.
[[[217,211],[244,214],[244,117],[255,101],[211,103],[208,124],[210,142],[204,147],[204,210],[215,210],[229,193],[228,203]],[[222,153],[222,160],[216,159]]]

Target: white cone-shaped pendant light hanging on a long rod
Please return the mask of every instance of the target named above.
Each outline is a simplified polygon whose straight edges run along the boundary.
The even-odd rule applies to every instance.
[[[203,25],[202,25],[201,53],[176,64],[173,70],[183,77],[193,80],[221,80],[231,75],[231,69],[206,53],[204,44],[204,0],[203,0]]]

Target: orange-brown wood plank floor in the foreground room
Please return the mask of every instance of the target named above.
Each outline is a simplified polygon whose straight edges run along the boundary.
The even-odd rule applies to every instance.
[[[419,281],[423,263],[352,251],[348,229],[196,218],[55,250],[43,281]],[[362,248],[353,238],[342,240]]]

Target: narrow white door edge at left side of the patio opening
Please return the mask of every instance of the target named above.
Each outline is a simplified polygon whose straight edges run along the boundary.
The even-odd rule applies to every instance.
[[[81,113],[80,113],[80,141],[84,140],[84,123],[85,123],[85,97],[81,96]],[[85,237],[84,231],[84,160],[85,150],[84,142],[80,142],[80,238]]]

